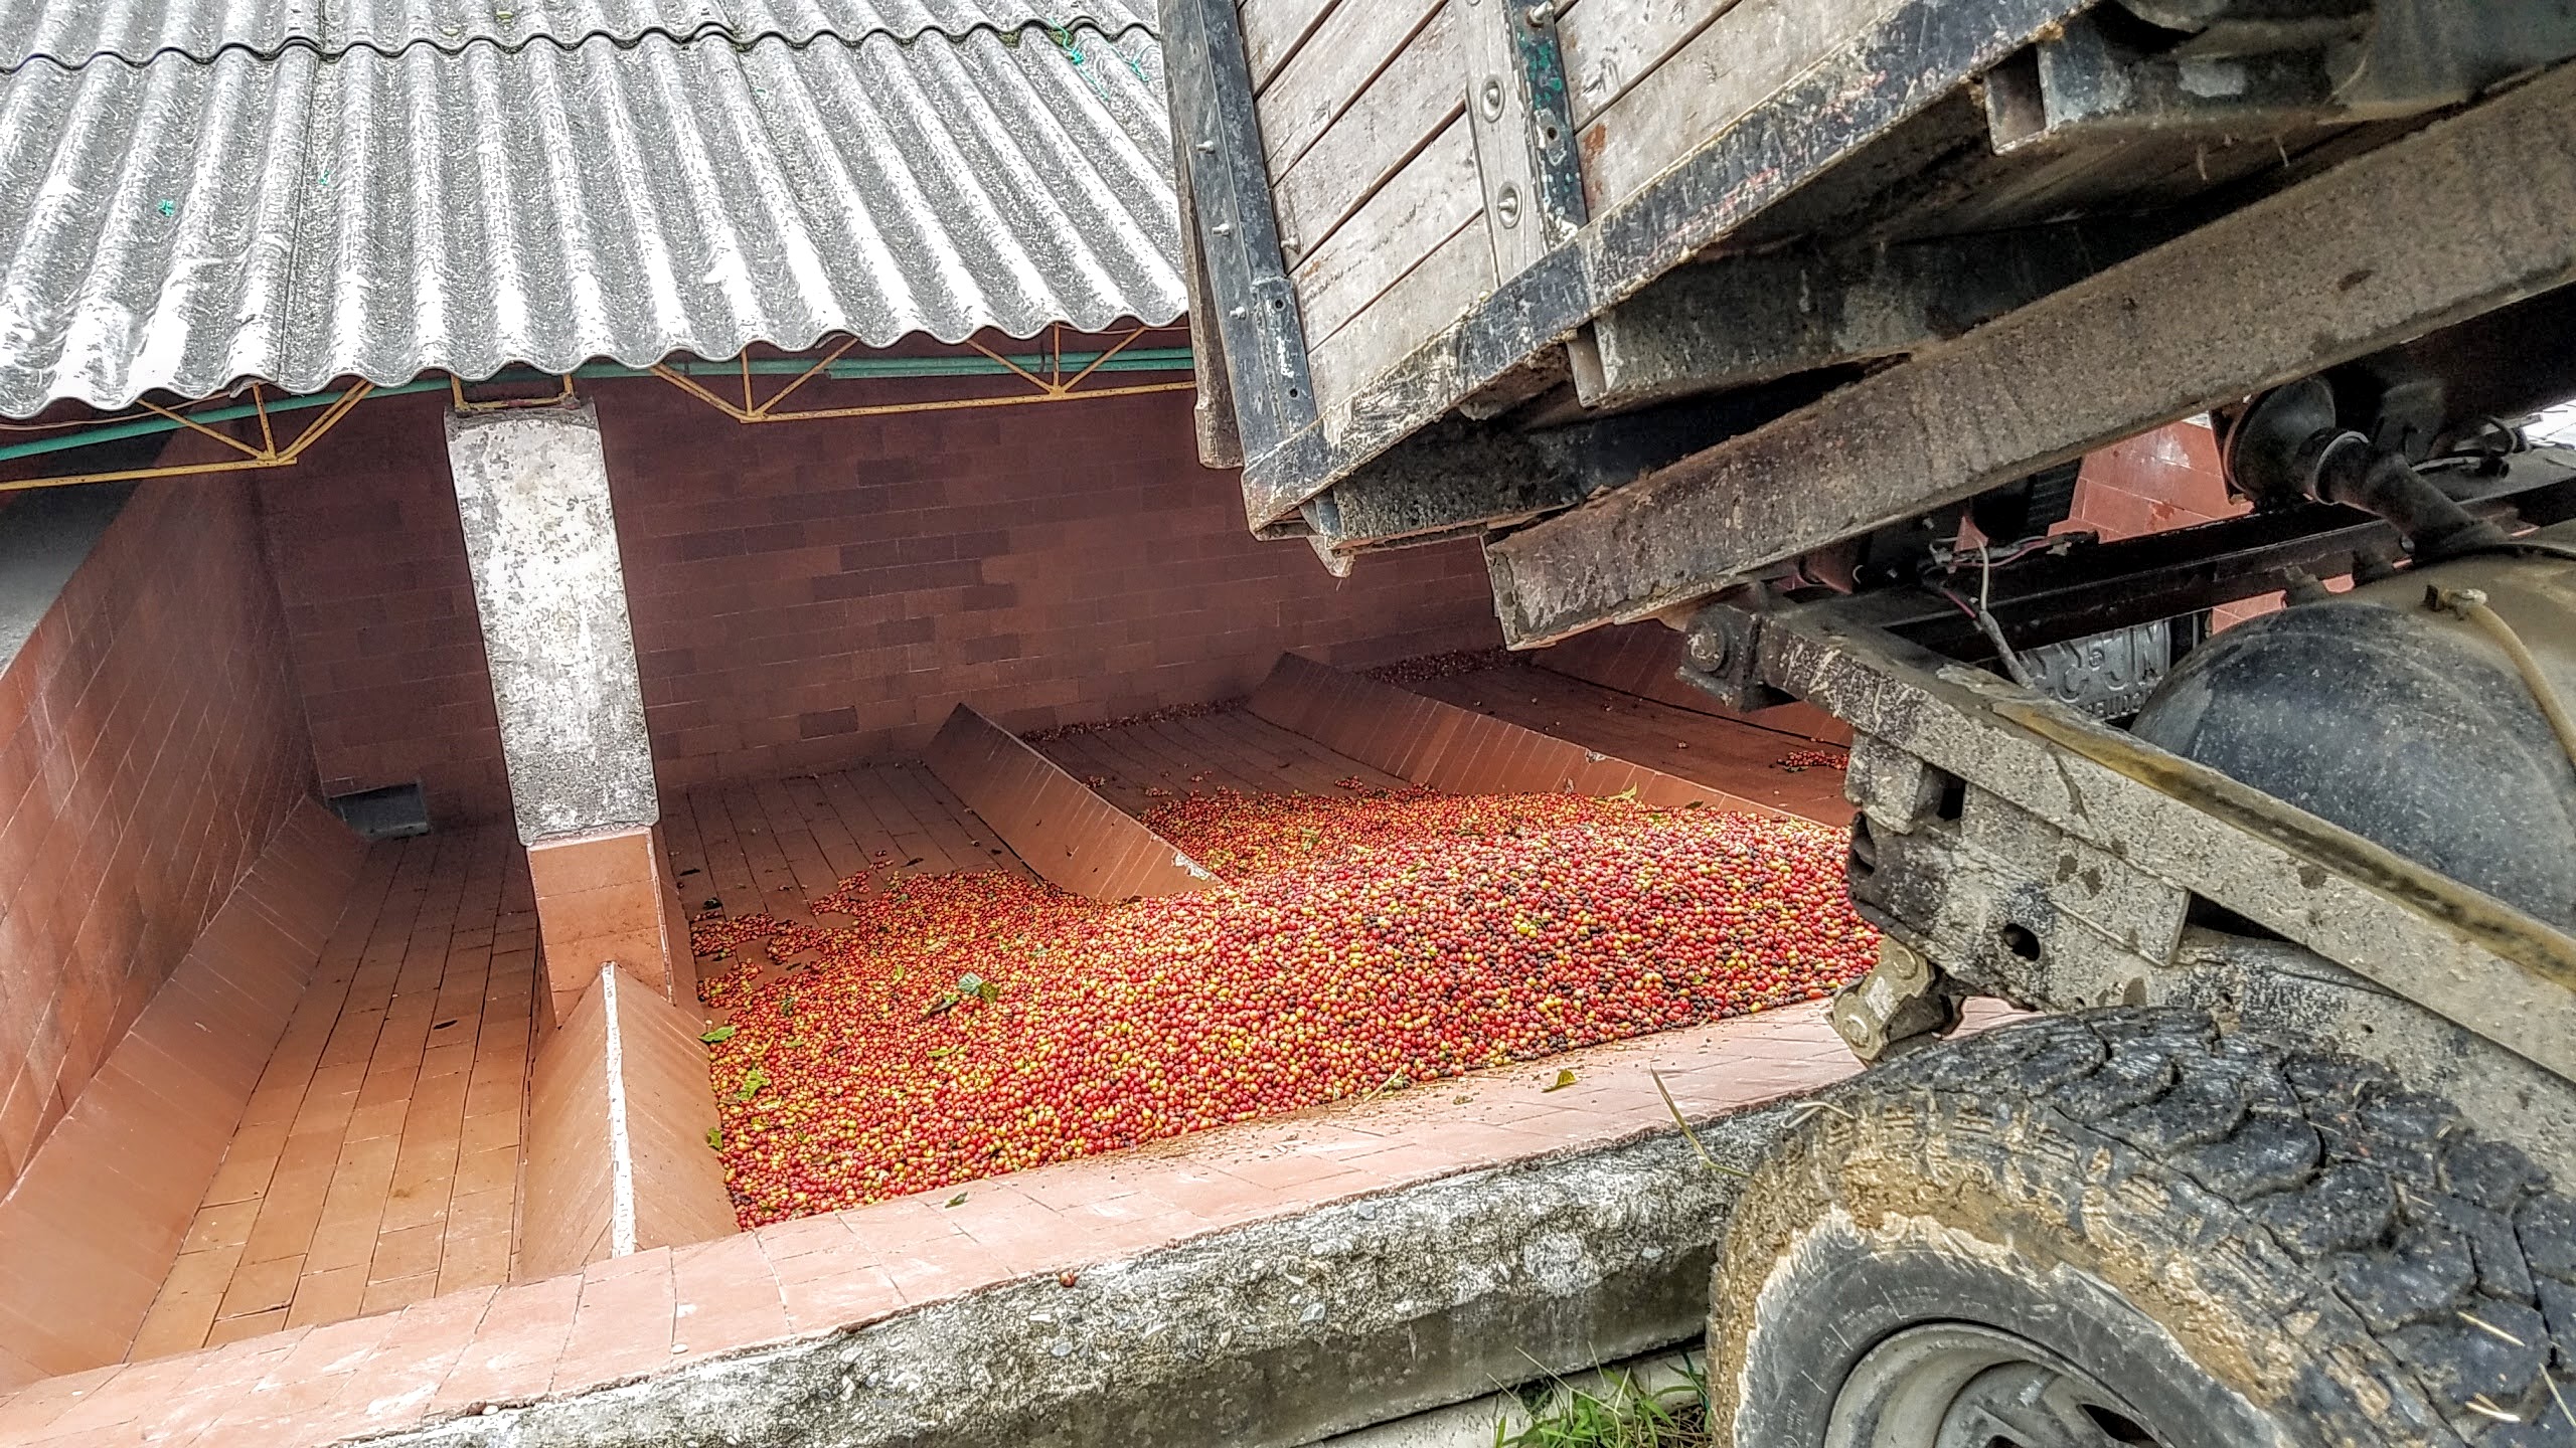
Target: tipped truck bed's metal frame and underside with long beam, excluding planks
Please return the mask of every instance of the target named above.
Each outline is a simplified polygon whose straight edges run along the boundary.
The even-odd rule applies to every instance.
[[[2197,98],[2092,0],[1893,3],[1321,407],[1236,5],[1167,0],[1203,453],[1337,564],[1484,536],[1530,647],[2576,278],[2576,18],[2385,3],[2414,75]]]

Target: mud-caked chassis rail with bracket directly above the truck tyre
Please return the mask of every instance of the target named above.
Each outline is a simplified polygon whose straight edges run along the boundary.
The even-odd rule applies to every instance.
[[[2154,969],[2197,897],[2576,1080],[2576,938],[2218,770],[1852,624],[1837,603],[1765,616],[1757,649],[1765,680],[1870,739],[1855,750],[1855,786],[1904,783],[1906,770],[1860,760],[1886,750],[1960,781],[1958,791],[1919,781],[1901,791],[1904,819],[1865,799],[1873,835],[1888,814],[1899,837],[1937,837],[1955,799],[1963,832],[1991,812],[1989,853],[2004,858],[2030,853],[2002,832],[2030,817],[2081,850],[2022,861],[2017,873],[2063,876],[2050,899],[2097,915],[2102,951]],[[2050,969],[2048,940],[2004,907],[1976,928],[1991,925],[1994,943],[2032,971]],[[2007,938],[2004,925],[2030,938]]]

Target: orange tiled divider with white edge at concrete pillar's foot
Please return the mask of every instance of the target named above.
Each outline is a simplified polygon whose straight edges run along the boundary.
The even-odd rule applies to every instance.
[[[693,1015],[600,966],[533,1074],[518,1278],[737,1229]]]

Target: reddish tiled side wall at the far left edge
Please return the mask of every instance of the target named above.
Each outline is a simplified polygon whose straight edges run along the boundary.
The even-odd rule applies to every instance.
[[[0,672],[0,1188],[312,794],[250,492],[142,484]]]

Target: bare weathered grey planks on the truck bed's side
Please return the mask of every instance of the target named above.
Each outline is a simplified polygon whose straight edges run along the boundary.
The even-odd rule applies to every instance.
[[[1517,106],[1471,70],[1515,0],[1247,0],[1262,162],[1306,327],[1314,397],[1347,405],[1504,276],[1546,219],[1489,201]],[[1558,10],[1584,214],[1636,196],[1891,0],[1574,0]],[[1481,26],[1492,31],[1494,26]],[[1489,67],[1497,70],[1499,67]],[[1479,160],[1479,152],[1486,162]],[[1489,175],[1492,173],[1492,175]],[[1502,224],[1510,211],[1512,224]],[[1515,234],[1520,232],[1520,234]],[[1533,245],[1533,240],[1538,245]]]

